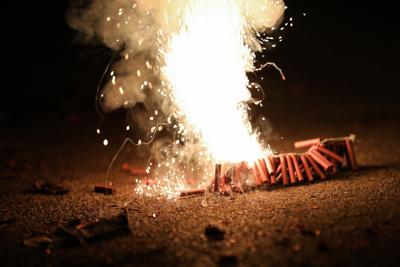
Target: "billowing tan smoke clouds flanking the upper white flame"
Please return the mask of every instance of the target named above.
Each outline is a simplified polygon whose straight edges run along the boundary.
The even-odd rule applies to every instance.
[[[283,16],[283,0],[237,0],[249,26],[246,43],[260,51],[254,31],[262,32],[278,24]],[[101,42],[121,50],[122,59],[113,65],[116,80],[102,91],[104,111],[131,108],[146,101],[145,82],[159,82],[157,66],[160,37],[168,38],[179,29],[191,0],[71,0],[67,22],[84,42]],[[149,64],[148,62],[153,62]],[[251,68],[249,68],[249,71]],[[147,84],[148,85],[148,84]],[[154,94],[150,94],[153,95]],[[161,104],[161,103],[160,103]],[[148,104],[147,106],[149,106]],[[164,103],[164,108],[167,108]]]

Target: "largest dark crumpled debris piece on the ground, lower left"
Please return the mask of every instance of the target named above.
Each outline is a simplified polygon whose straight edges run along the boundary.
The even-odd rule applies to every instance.
[[[130,233],[128,214],[123,210],[119,215],[103,218],[92,223],[83,223],[79,219],[60,225],[54,240],[64,244],[85,244],[110,239]]]

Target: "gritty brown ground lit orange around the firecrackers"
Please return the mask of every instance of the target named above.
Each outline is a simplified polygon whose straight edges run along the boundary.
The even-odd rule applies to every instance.
[[[360,169],[324,182],[232,197],[208,195],[207,205],[202,197],[171,201],[136,196],[133,178],[118,167],[112,170],[116,195],[94,193],[120,144],[111,138],[109,146],[102,146],[94,122],[89,116],[72,124],[1,133],[2,266],[400,264],[400,124],[395,116],[351,119],[338,112],[329,120],[274,118],[277,138],[272,145],[282,151],[293,150],[293,141],[302,138],[357,134]],[[116,166],[135,157],[140,165],[137,153],[127,148]],[[38,179],[70,191],[28,192]],[[51,238],[60,224],[109,218],[125,206],[129,234],[47,249],[23,245],[32,237]],[[215,227],[210,235],[207,226]]]

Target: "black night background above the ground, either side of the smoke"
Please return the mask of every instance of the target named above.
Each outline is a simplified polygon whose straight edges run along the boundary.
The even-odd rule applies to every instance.
[[[295,27],[266,55],[284,69],[287,81],[272,70],[263,73],[270,117],[310,99],[318,109],[333,101],[354,105],[356,117],[398,114],[394,8],[367,2],[286,1]],[[97,81],[111,53],[76,42],[65,22],[67,7],[68,1],[3,4],[1,127],[94,114]]]

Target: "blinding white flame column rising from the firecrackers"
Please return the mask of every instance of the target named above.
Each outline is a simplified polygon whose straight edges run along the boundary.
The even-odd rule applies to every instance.
[[[194,0],[170,39],[163,74],[186,125],[219,162],[254,161],[263,154],[247,115],[245,21],[235,0]]]

